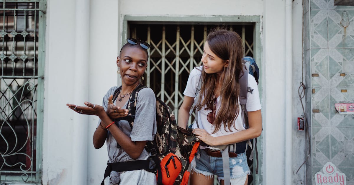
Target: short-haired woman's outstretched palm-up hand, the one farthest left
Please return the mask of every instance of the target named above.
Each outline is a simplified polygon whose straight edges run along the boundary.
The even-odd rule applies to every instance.
[[[85,101],[85,105],[86,106],[78,106],[78,105],[67,103],[67,106],[71,110],[73,110],[79,114],[95,115],[98,117],[102,116],[102,113],[105,114],[103,107],[100,105],[94,105],[94,104],[92,104],[90,102],[86,102],[86,101]]]

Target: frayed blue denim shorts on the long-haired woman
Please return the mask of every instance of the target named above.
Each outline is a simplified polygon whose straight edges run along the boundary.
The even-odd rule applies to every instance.
[[[229,157],[230,179],[242,178],[250,174],[250,168],[247,164],[246,152],[238,154],[237,157]],[[192,170],[205,176],[218,176],[218,180],[224,180],[224,170],[222,157],[212,157],[206,154],[204,150],[199,149],[193,161]]]

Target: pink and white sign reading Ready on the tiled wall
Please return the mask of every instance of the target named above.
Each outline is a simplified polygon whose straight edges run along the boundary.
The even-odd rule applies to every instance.
[[[346,185],[346,174],[337,171],[337,167],[331,163],[327,162],[323,166],[323,173],[317,172],[315,174],[315,184],[316,185]]]

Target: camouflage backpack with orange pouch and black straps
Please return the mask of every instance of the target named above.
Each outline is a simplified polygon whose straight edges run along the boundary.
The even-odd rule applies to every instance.
[[[138,92],[147,88],[139,85],[130,95],[126,109],[128,116],[115,119],[127,120],[133,128]],[[119,95],[121,86],[114,92],[113,101]],[[108,163],[104,178],[110,171],[116,172],[144,169],[156,173],[158,184],[163,185],[187,185],[190,162],[198,150],[200,140],[192,134],[192,129],[186,130],[177,126],[175,115],[171,108],[156,96],[156,135],[153,141],[148,141],[145,150],[151,153],[146,160]],[[123,166],[123,167],[122,167]]]

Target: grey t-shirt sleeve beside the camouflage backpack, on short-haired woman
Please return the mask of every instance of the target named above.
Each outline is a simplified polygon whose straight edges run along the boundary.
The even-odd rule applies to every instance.
[[[144,88],[137,97],[136,114],[130,135],[132,141],[152,141],[156,134],[156,98],[154,91]]]

